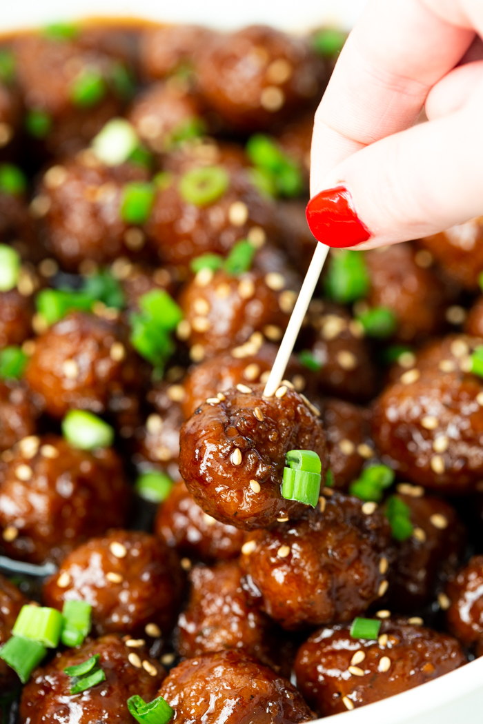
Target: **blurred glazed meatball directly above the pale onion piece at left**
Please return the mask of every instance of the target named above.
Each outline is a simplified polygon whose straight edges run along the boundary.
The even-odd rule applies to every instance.
[[[35,341],[25,379],[54,417],[72,408],[103,413],[138,380],[138,360],[121,339],[117,324],[72,312]]]

